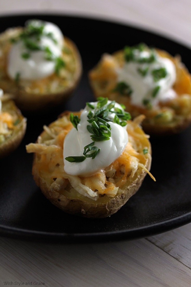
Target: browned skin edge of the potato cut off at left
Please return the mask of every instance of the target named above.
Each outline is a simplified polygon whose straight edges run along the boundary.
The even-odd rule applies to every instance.
[[[0,158],[4,158],[11,154],[14,150],[16,150],[21,143],[27,126],[27,121],[21,114],[21,111],[15,106],[14,102],[9,100],[2,104],[3,111],[7,111],[17,114],[17,118],[20,120],[18,128],[16,127],[13,131],[13,134],[5,140],[2,144],[0,144]]]

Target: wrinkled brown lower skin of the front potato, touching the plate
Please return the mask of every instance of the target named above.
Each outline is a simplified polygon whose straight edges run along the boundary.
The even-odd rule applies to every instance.
[[[145,167],[149,170],[150,165],[151,158],[148,158]],[[34,175],[34,180],[46,198],[64,212],[85,218],[105,218],[116,213],[139,190],[145,176],[145,171],[136,175],[131,185],[125,184],[121,187],[120,193],[115,197],[108,197],[106,203],[96,203],[93,200],[88,202],[86,197],[83,199],[68,198],[55,189],[51,190],[44,179],[39,177],[39,174]]]

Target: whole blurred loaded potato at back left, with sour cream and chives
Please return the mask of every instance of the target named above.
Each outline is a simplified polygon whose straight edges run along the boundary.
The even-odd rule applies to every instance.
[[[16,105],[26,112],[49,110],[65,102],[76,89],[82,74],[82,61],[76,44],[62,35],[58,56],[54,31],[47,32],[45,42],[41,43],[40,37],[45,37],[42,27],[48,22],[37,21],[38,27],[29,21],[24,28],[9,28],[0,34],[0,88],[12,94]],[[51,40],[55,42],[57,54],[54,54]],[[18,52],[17,46],[21,41],[24,48],[22,46]],[[53,63],[54,70],[52,66],[50,68]],[[29,75],[32,68],[34,70]]]

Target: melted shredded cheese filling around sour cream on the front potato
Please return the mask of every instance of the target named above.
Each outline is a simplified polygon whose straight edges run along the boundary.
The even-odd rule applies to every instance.
[[[64,115],[49,127],[44,126],[44,132],[38,138],[38,142],[26,146],[28,153],[36,154],[32,171],[34,175],[40,174],[47,182],[50,182],[51,187],[52,184],[55,185],[55,179],[62,179],[62,186],[57,189],[66,189],[69,192],[75,189],[79,194],[93,200],[105,195],[114,197],[128,178],[135,176],[138,169],[146,171],[154,179],[145,167],[150,157],[147,135],[137,128],[136,120],[127,125],[129,142],[125,150],[105,170],[99,170],[89,177],[66,174],[63,162],[63,142],[68,131],[72,129],[69,117],[69,114]],[[137,144],[137,139],[140,144]],[[143,153],[144,147],[149,151],[147,154]]]

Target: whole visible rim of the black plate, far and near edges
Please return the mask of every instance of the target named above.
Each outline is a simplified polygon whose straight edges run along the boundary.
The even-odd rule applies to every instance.
[[[176,43],[183,48],[186,48],[191,51],[191,48],[185,43],[182,43],[179,40],[170,38],[162,34],[162,32],[154,31],[151,28],[140,27],[138,24],[124,23],[117,21],[116,19],[103,19],[99,18],[96,15],[79,15],[78,13],[47,13],[47,12],[36,12],[36,11],[23,11],[22,13],[5,13],[0,15],[0,19],[3,18],[24,18],[24,17],[33,17],[33,16],[43,16],[43,17],[67,17],[75,18],[86,21],[95,21],[95,22],[104,22],[107,24],[119,25],[127,28],[132,28],[134,30],[143,31],[148,34],[153,34],[156,37],[164,38],[172,43]],[[124,230],[113,230],[113,231],[103,231],[103,232],[90,232],[90,233],[63,233],[63,232],[46,232],[38,231],[26,228],[19,228],[13,226],[6,226],[0,224],[0,235],[5,237],[14,237],[17,239],[27,239],[32,241],[61,241],[62,243],[80,243],[80,242],[103,242],[103,241],[121,241],[121,240],[133,240],[148,236],[153,236],[155,234],[160,234],[163,232],[170,231],[180,226],[186,225],[191,222],[191,210],[180,216],[175,216],[164,221],[160,221],[153,224],[148,224],[145,226],[135,227],[131,229]],[[30,236],[30,238],[28,238]]]

